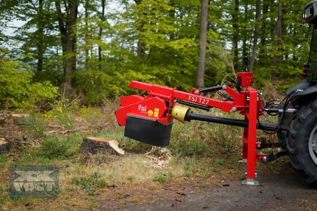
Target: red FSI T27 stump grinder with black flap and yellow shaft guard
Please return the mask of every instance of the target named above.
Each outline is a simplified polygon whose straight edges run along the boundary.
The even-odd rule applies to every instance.
[[[169,142],[173,118],[184,122],[209,121],[208,118],[213,117],[193,114],[189,108],[176,105],[177,102],[182,101],[185,102],[184,105],[201,106],[208,110],[218,108],[223,112],[239,112],[244,115],[244,121],[232,119],[234,122],[230,122],[231,118],[213,117],[218,118],[217,121],[210,120],[210,122],[244,127],[242,158],[247,161],[247,180],[244,183],[256,185],[258,182],[254,181],[255,163],[261,161],[261,157],[266,157],[266,154],[256,153],[256,149],[262,148],[261,143],[256,142],[257,117],[262,115],[262,105],[260,94],[251,87],[253,73],[237,73],[237,79],[241,82],[240,86],[246,87],[245,91],[241,89],[239,93],[226,85],[210,87],[212,91],[222,89],[227,92],[231,99],[225,101],[201,96],[200,94],[204,91],[195,88],[187,93],[166,86],[132,81],[129,87],[149,94],[146,97],[130,95],[121,98],[121,107],[115,114],[117,122],[119,125],[125,126],[125,136],[127,137],[147,144],[166,146]],[[165,141],[162,141],[163,139]]]

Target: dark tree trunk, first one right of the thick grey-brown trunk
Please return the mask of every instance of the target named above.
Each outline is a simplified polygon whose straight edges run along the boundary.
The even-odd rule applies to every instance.
[[[232,13],[232,48],[234,48],[234,59],[233,62],[235,70],[238,67],[238,39],[239,39],[239,25],[238,25],[238,14],[239,14],[239,0],[235,0],[235,9]]]

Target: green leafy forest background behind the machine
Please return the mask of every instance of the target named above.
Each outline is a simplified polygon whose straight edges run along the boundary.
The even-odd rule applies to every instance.
[[[1,0],[0,108],[45,107],[61,95],[99,105],[135,93],[132,80],[183,91],[235,83],[243,56],[255,88],[283,91],[299,82],[308,59],[306,3]]]

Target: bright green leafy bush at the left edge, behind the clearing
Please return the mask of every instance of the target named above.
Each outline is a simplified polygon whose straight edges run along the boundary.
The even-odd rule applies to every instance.
[[[0,108],[30,108],[57,97],[49,81],[32,82],[30,68],[0,49]]]

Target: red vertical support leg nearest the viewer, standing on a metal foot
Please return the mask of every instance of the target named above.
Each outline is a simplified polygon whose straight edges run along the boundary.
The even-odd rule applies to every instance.
[[[257,185],[255,178],[256,163],[256,117],[257,117],[257,91],[247,88],[249,92],[249,128],[248,128],[248,155],[247,155],[247,185]]]

